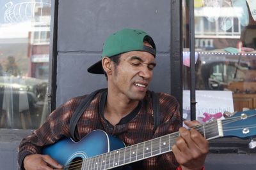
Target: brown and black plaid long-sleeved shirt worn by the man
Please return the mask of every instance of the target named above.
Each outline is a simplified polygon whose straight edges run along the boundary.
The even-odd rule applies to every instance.
[[[121,139],[126,146],[129,146],[178,131],[180,127],[179,103],[175,97],[168,94],[157,93],[157,95],[159,96],[161,124],[156,131],[154,130],[150,92],[147,92],[140,104],[115,126],[109,124],[108,120],[104,118],[104,109],[100,109],[104,108],[107,96],[106,93],[100,92],[79,118],[75,131],[76,138],[82,139],[93,130],[101,129]],[[58,109],[52,111],[40,128],[22,139],[18,155],[20,169],[23,169],[22,162],[26,155],[40,153],[41,148],[45,145],[56,143],[64,137],[71,137],[69,132],[70,118],[85,97],[86,95],[74,97],[61,105]],[[100,104],[103,106],[100,106]],[[172,152],[131,164],[132,169],[175,169],[177,166]]]

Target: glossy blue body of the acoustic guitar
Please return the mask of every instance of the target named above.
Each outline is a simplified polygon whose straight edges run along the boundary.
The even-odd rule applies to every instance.
[[[61,139],[56,145],[45,147],[42,154],[51,155],[59,164],[67,166],[73,159],[88,159],[124,147],[125,144],[120,139],[109,136],[104,131],[96,130],[78,142],[70,138]]]

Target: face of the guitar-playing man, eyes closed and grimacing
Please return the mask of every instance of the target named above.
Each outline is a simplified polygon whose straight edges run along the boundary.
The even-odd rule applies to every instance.
[[[155,66],[156,60],[151,53],[139,51],[123,53],[118,66],[113,64],[113,74],[108,78],[111,90],[128,100],[143,99],[152,80]]]

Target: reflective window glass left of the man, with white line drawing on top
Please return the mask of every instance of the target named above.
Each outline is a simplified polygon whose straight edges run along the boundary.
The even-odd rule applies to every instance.
[[[0,1],[0,128],[35,129],[47,114],[51,0]]]

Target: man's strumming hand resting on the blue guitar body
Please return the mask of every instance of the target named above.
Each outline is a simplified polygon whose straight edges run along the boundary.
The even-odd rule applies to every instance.
[[[27,155],[23,160],[23,164],[26,170],[53,170],[62,168],[62,166],[58,164],[56,160],[52,159],[49,155],[40,154]]]

